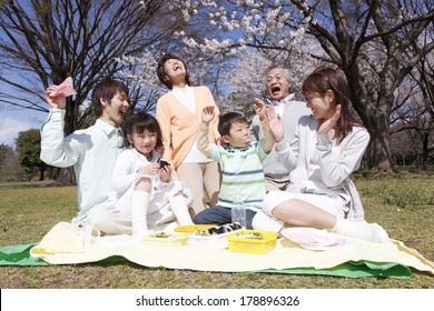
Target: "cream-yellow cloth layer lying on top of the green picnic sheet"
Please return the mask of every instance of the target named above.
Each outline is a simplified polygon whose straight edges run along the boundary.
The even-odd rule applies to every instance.
[[[59,223],[42,239],[41,243],[30,250],[30,254],[41,258],[51,264],[71,264],[97,262],[102,259],[121,255],[127,260],[145,267],[165,267],[169,269],[189,269],[197,271],[243,272],[265,269],[315,268],[327,269],[348,261],[373,261],[379,263],[400,263],[434,275],[434,263],[403,242],[391,240],[386,243],[374,243],[357,239],[349,243],[315,251],[300,248],[288,239],[278,239],[277,245],[265,254],[240,253],[225,250],[198,248],[194,245],[170,247],[149,241],[134,240],[129,235],[101,237],[89,247],[77,249],[62,248],[70,237],[67,223]],[[73,233],[72,233],[73,235]],[[58,250],[53,250],[51,240]]]

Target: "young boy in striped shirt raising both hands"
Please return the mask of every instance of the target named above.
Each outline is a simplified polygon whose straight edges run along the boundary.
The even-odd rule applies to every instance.
[[[264,109],[263,109],[264,110]],[[231,221],[231,204],[235,195],[241,195],[246,205],[246,227],[251,229],[251,220],[260,211],[265,197],[263,161],[270,152],[275,139],[267,123],[265,112],[257,111],[264,128],[262,141],[250,141],[250,130],[243,114],[227,112],[220,116],[218,131],[226,146],[217,146],[208,140],[208,124],[214,118],[213,107],[203,109],[197,147],[208,158],[219,162],[221,187],[217,205],[199,212],[195,223],[224,224]]]

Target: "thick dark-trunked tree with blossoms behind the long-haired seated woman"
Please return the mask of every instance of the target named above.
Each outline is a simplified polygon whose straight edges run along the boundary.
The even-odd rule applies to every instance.
[[[294,38],[314,37],[320,49],[310,57],[343,69],[353,106],[371,133],[366,162],[371,169],[393,169],[389,114],[394,92],[434,42],[411,49],[434,20],[428,0],[175,0],[186,21],[201,20],[207,37],[184,36],[184,43],[209,58],[233,58],[247,47],[259,50],[299,49]],[[405,58],[403,56],[406,56]]]

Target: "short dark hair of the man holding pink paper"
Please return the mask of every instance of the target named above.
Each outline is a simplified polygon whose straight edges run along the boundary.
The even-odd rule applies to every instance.
[[[111,103],[112,98],[118,92],[125,93],[127,97],[129,97],[128,87],[122,82],[112,79],[105,79],[95,86],[92,91],[92,107],[98,117],[101,117],[103,111],[101,99]]]

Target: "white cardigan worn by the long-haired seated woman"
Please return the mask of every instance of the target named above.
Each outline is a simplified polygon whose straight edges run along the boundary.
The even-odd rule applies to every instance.
[[[369,133],[361,127],[353,127],[353,131],[341,142],[338,154],[332,152],[333,142],[328,134],[317,134],[318,121],[313,116],[299,119],[295,137],[290,143],[283,141],[276,144],[276,151],[292,171],[289,174],[290,192],[304,192],[304,181],[308,180],[308,165],[312,152],[316,148],[319,153],[320,193],[338,194],[344,192],[349,198],[345,208],[346,218],[353,221],[364,220],[364,209],[355,184],[349,174],[356,171],[369,142]],[[315,143],[316,136],[316,143]]]

